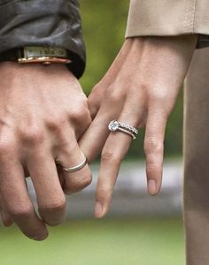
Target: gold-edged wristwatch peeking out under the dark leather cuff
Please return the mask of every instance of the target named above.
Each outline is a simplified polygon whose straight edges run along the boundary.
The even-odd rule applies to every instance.
[[[13,61],[19,64],[70,64],[67,49],[59,47],[26,46],[9,49],[0,54],[0,62]]]

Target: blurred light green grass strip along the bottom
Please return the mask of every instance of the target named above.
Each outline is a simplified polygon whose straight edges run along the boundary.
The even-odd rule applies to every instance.
[[[2,265],[183,265],[180,219],[71,221],[35,242],[0,228]]]

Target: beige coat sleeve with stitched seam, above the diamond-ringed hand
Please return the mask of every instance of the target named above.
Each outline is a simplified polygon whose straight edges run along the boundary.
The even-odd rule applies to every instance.
[[[209,45],[209,0],[131,0],[126,37],[200,34]]]

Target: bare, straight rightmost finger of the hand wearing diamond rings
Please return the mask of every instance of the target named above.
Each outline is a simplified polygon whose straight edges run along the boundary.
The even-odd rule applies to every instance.
[[[151,195],[159,193],[162,183],[166,119],[165,113],[160,110],[150,112],[147,117],[144,153],[148,192]]]

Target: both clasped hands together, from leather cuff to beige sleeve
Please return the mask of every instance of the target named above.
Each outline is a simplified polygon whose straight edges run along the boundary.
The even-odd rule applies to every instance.
[[[47,237],[45,223],[65,216],[64,193],[91,182],[89,166],[66,173],[55,163],[92,162],[101,154],[95,216],[111,203],[120,163],[132,138],[110,132],[112,119],[145,126],[148,191],[159,193],[167,118],[174,108],[197,36],[128,39],[89,99],[63,65],[0,65],[0,201],[5,225],[15,222],[27,237]],[[79,143],[78,143],[79,142]],[[27,193],[35,186],[40,216]]]

